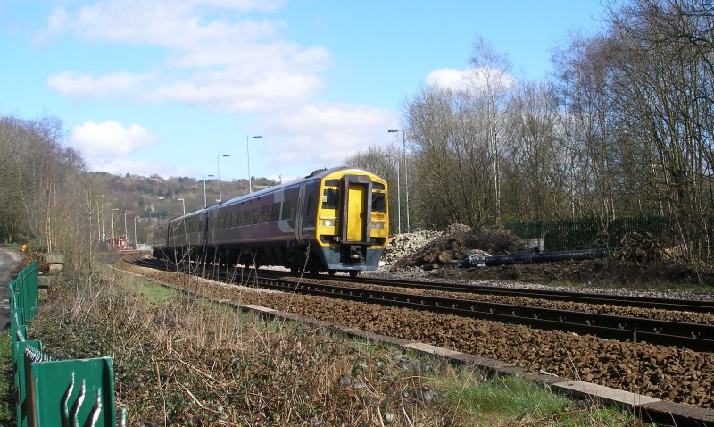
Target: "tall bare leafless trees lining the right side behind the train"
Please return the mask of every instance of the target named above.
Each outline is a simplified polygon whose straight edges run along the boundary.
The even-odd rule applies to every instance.
[[[398,160],[418,228],[652,215],[689,259],[710,258],[714,4],[629,0],[602,23],[557,46],[539,81],[504,78],[508,59],[477,38],[468,88],[405,101],[405,153],[347,163],[384,173],[394,203]]]

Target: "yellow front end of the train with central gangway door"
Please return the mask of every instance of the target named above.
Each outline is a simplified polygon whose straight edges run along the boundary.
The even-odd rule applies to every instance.
[[[314,251],[328,272],[374,270],[389,236],[386,181],[369,172],[340,171],[320,183]]]

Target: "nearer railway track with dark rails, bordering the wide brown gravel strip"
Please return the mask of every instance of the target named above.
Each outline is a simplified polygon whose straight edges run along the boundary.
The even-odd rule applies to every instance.
[[[174,266],[174,268],[176,268]],[[170,269],[169,269],[170,270]],[[235,280],[237,275],[220,272],[223,280]],[[714,348],[714,325],[670,322],[610,314],[595,314],[531,306],[511,306],[501,303],[463,300],[447,297],[402,294],[375,289],[354,289],[302,280],[271,279],[253,274],[252,284],[286,292],[339,297],[383,306],[396,306],[443,314],[524,325],[541,330],[560,330],[603,339],[645,341],[670,347],[686,347],[695,351]],[[255,281],[253,281],[255,280]]]

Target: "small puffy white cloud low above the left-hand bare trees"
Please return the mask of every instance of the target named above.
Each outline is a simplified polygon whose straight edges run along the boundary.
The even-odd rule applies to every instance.
[[[142,126],[132,124],[125,128],[116,121],[87,121],[75,126],[70,136],[72,147],[87,155],[90,164],[96,159],[129,155],[157,141],[158,138]]]

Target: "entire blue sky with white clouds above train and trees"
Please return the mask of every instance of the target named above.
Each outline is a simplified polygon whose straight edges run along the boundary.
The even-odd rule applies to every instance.
[[[477,38],[544,79],[601,3],[0,0],[0,116],[59,118],[91,171],[293,180],[400,143],[405,102],[477,74]]]

